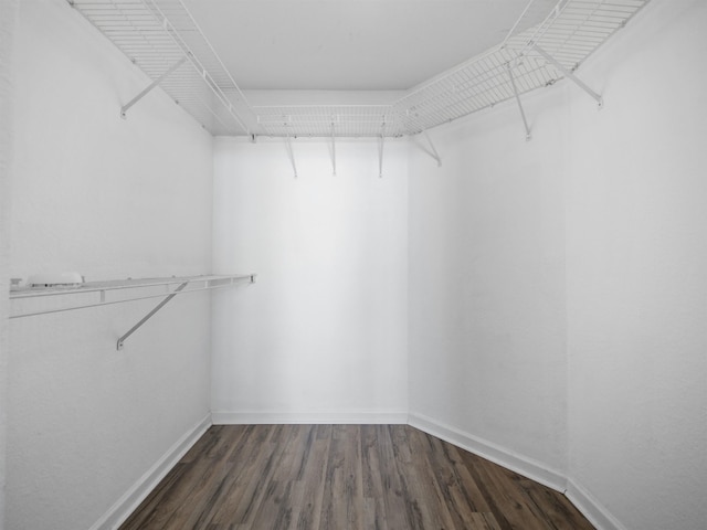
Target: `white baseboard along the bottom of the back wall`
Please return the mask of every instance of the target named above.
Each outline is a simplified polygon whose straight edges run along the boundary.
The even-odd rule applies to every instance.
[[[407,424],[407,411],[349,412],[212,412],[214,425],[268,424]]]

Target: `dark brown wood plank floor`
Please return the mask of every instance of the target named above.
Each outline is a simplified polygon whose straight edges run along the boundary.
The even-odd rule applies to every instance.
[[[122,530],[584,530],[557,491],[407,425],[213,426]]]

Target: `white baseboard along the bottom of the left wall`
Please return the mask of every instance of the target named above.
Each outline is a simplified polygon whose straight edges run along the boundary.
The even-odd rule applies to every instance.
[[[211,425],[211,414],[207,414],[192,430],[179,438],[89,530],[115,530],[123,524]]]

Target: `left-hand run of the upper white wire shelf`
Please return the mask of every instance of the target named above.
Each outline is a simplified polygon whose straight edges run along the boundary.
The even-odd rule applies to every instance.
[[[181,0],[70,0],[212,135],[244,136],[255,115]]]

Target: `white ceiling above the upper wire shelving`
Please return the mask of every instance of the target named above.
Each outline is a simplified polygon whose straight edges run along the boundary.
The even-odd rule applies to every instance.
[[[243,89],[400,91],[499,44],[529,0],[183,2]]]

